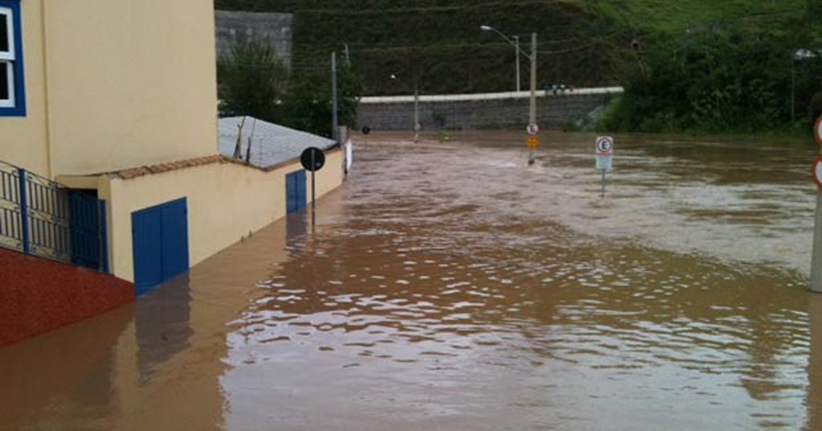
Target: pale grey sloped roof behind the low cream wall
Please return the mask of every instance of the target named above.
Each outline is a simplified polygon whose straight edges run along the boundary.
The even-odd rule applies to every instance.
[[[326,150],[336,142],[322,136],[312,135],[304,131],[295,131],[289,127],[278,126],[270,122],[257,120],[254,117],[245,117],[242,126],[242,160],[246,158],[248,137],[252,136],[251,165],[255,167],[271,167],[294,158],[299,158],[302,151],[308,147]],[[242,117],[226,117],[219,119],[219,154],[233,157],[234,146],[237,144],[238,126]]]

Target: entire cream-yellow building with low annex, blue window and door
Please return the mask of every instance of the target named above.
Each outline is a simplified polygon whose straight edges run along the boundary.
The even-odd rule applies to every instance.
[[[201,0],[0,0],[0,161],[104,201],[106,268],[138,291],[284,216],[301,169],[219,155],[214,21]]]

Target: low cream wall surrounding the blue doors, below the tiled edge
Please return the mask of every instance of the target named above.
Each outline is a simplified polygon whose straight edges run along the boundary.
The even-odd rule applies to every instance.
[[[326,154],[316,172],[317,196],[343,181],[342,154]],[[210,163],[122,179],[99,178],[99,197],[109,202],[109,263],[113,274],[134,280],[132,213],[185,197],[188,205],[189,264],[240,241],[250,232],[285,216],[285,175],[302,169],[298,160],[270,171],[240,163]],[[311,175],[307,175],[311,181]],[[311,199],[311,183],[306,190]]]

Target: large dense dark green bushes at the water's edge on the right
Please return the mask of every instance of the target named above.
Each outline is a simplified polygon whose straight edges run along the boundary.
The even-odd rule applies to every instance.
[[[625,94],[601,124],[617,131],[786,130],[797,44],[778,32],[728,26],[667,37],[628,63]]]

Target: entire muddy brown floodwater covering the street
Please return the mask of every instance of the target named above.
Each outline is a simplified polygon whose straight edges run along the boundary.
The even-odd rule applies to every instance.
[[[0,429],[822,429],[815,144],[617,135],[602,197],[593,135],[410,137],[0,349]]]

